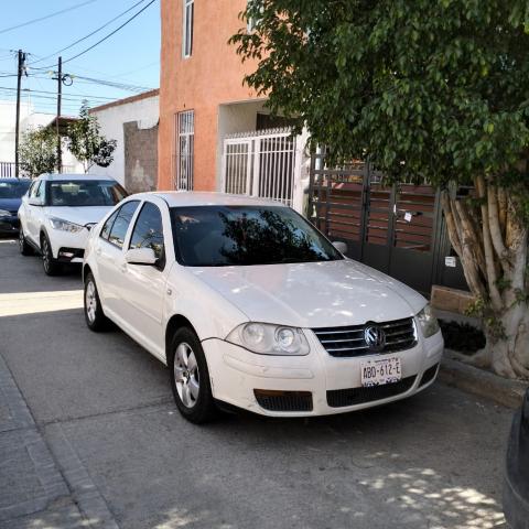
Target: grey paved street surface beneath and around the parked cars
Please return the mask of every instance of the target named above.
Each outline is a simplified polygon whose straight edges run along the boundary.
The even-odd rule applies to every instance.
[[[78,271],[47,278],[0,239],[0,527],[504,526],[510,410],[435,382],[364,412],[195,427],[166,368],[90,333],[80,303]]]

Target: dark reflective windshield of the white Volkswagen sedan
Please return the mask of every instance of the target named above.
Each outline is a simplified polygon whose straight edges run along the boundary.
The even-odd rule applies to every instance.
[[[333,245],[283,206],[171,208],[176,257],[188,267],[343,259]]]

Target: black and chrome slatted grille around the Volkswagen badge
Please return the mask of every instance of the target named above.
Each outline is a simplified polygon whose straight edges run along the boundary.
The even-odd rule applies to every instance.
[[[373,326],[379,327],[386,338],[384,346],[377,349],[369,346],[365,339],[366,328]],[[368,322],[364,325],[347,327],[320,327],[312,331],[325,350],[331,356],[337,357],[396,353],[417,345],[417,332],[412,317],[382,323]]]

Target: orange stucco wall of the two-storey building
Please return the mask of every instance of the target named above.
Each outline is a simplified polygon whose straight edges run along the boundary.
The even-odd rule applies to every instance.
[[[159,190],[174,187],[175,114],[195,111],[194,188],[215,190],[218,106],[253,99],[242,85],[251,62],[241,64],[228,39],[245,23],[246,0],[195,0],[193,54],[182,57],[183,0],[162,0]]]

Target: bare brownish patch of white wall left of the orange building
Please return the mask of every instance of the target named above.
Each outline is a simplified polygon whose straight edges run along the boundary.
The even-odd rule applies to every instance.
[[[125,187],[129,193],[154,191],[158,181],[158,125],[140,129],[138,121],[123,123]]]

